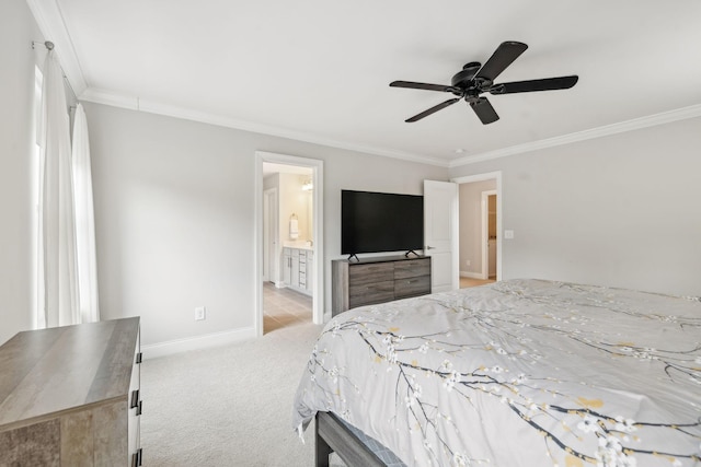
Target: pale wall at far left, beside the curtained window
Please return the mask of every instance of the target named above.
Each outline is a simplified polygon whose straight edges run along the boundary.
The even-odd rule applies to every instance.
[[[42,37],[24,0],[0,2],[0,345],[33,323],[32,119],[42,56],[31,45]]]

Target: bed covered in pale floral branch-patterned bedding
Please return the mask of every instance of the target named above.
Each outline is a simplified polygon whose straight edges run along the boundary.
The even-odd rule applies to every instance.
[[[299,383],[314,418],[318,465],[387,465],[359,433],[406,466],[698,467],[701,300],[509,280],[355,308]]]

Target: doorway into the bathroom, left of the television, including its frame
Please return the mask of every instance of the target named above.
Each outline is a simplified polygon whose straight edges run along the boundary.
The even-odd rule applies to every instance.
[[[321,324],[323,162],[262,151],[255,155],[256,336],[310,317]]]

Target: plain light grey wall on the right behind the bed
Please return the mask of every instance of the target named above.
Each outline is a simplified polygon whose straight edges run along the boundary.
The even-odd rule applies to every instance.
[[[503,278],[701,295],[701,118],[456,167],[503,171]]]

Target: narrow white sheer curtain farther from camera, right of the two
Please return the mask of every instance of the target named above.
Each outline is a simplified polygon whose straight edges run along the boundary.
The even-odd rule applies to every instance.
[[[73,119],[72,159],[80,322],[93,323],[100,320],[95,217],[92,203],[92,170],[90,166],[88,120],[82,104],[78,104],[76,107]]]

